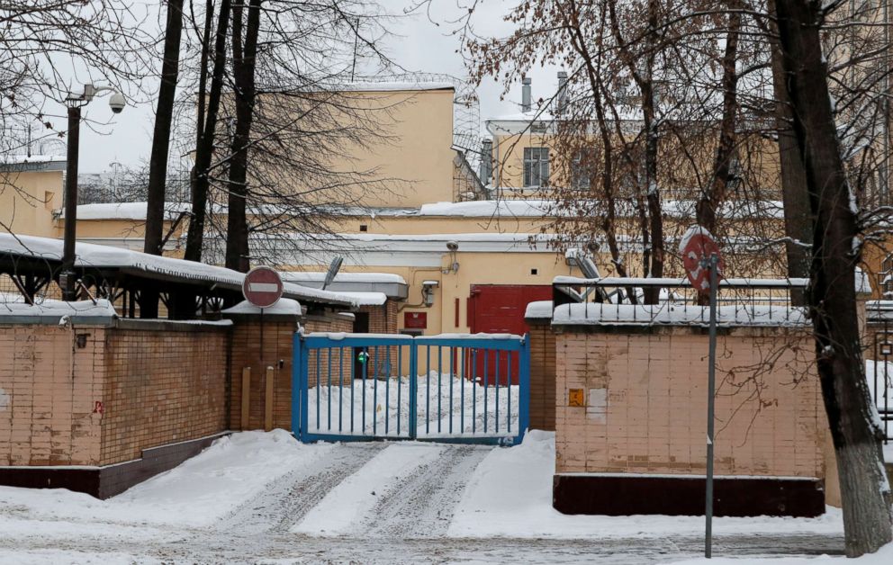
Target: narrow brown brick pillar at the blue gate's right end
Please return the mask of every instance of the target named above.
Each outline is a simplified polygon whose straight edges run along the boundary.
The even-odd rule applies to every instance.
[[[551,318],[528,319],[530,427],[555,431],[555,334]]]

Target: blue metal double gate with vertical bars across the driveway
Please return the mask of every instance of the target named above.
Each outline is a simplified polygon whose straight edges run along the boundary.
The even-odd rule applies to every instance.
[[[517,444],[529,422],[527,336],[295,334],[302,442]]]

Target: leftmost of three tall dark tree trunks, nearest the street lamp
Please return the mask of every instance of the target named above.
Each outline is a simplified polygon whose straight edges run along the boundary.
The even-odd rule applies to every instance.
[[[182,32],[183,0],[168,0],[161,85],[158,88],[158,108],[155,112],[155,131],[152,134],[152,152],[149,157],[146,236],[143,243],[143,251],[151,255],[161,255],[167,193],[167,153],[170,148],[170,124],[174,119]],[[158,318],[158,291],[144,289],[140,292],[140,318]]]

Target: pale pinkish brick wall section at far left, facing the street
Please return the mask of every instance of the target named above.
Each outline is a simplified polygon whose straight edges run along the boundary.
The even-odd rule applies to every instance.
[[[105,331],[0,326],[0,465],[99,464]]]

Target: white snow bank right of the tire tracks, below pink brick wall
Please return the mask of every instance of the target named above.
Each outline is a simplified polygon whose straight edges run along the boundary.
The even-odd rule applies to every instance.
[[[552,507],[555,433],[532,430],[510,449],[494,449],[468,480],[449,527],[459,538],[645,538],[702,535],[703,516],[568,516]],[[817,518],[715,518],[717,535],[840,535],[839,510]]]

